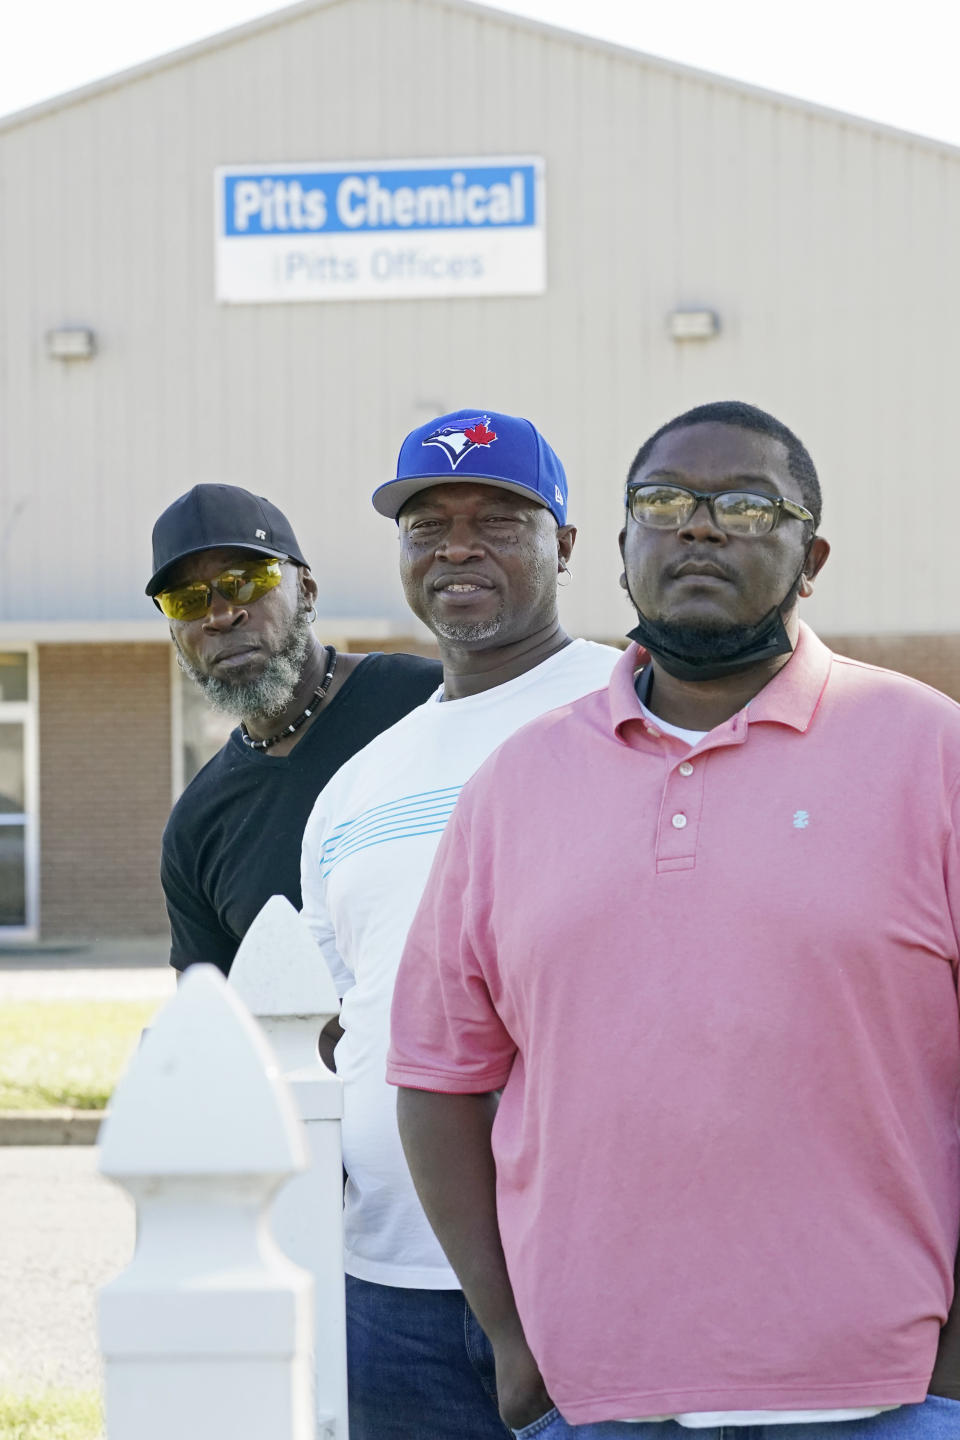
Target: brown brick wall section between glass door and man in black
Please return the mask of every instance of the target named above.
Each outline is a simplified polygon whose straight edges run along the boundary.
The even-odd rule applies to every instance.
[[[40,645],[40,932],[163,935],[166,645]]]

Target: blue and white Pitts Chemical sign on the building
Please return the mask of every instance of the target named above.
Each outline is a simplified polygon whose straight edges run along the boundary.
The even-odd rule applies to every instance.
[[[543,160],[216,171],[217,300],[416,300],[545,289]]]

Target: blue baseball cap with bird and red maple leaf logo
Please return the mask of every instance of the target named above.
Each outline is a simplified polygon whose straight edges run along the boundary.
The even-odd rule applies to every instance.
[[[373,492],[373,508],[396,520],[419,490],[461,480],[501,485],[530,495],[567,523],[567,477],[530,420],[499,410],[453,410],[410,431],[397,456],[397,474]]]

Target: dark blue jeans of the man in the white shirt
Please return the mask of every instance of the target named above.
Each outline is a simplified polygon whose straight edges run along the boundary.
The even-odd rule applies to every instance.
[[[494,1351],[461,1290],[348,1274],[347,1388],[350,1440],[510,1440]]]

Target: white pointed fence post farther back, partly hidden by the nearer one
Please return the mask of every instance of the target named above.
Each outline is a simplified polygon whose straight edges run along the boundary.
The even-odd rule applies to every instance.
[[[314,937],[284,896],[268,900],[246,932],[230,985],[263,1025],[304,1119],[309,1169],[276,1197],[273,1234],[291,1260],[314,1276],[317,1436],[348,1440],[343,1084],[317,1051],[340,1001]]]

